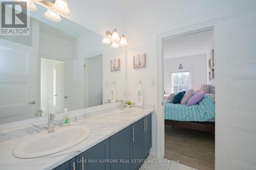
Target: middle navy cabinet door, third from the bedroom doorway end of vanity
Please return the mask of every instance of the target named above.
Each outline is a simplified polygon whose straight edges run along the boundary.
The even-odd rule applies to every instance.
[[[110,159],[118,160],[111,163],[111,170],[132,169],[132,126],[129,126],[110,137]],[[122,161],[122,162],[121,162]]]

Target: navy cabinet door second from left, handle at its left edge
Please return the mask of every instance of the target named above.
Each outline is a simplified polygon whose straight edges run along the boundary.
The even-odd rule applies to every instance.
[[[98,143],[76,157],[77,170],[110,170],[110,138]]]

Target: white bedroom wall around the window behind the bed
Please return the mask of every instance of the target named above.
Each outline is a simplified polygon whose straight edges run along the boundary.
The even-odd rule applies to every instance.
[[[182,64],[182,70],[191,71],[191,88],[200,89],[202,84],[206,84],[206,54],[197,56],[180,57],[164,60],[164,91],[170,93],[171,72],[178,69]]]

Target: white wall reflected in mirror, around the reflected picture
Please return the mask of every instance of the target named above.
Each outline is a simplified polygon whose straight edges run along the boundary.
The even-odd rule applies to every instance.
[[[77,56],[78,58],[88,58],[103,53],[102,70],[103,70],[103,102],[111,99],[110,84],[116,81],[116,98],[124,100],[125,90],[125,48],[111,48],[110,45],[101,43],[102,37],[90,33],[77,39]],[[121,70],[111,71],[110,61],[113,59],[121,59]]]

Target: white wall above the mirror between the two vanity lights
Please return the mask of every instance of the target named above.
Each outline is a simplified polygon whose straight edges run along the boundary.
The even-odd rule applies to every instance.
[[[68,1],[71,15],[68,17],[79,25],[105,36],[106,30],[116,28],[125,33],[125,16],[114,3],[105,0]]]

